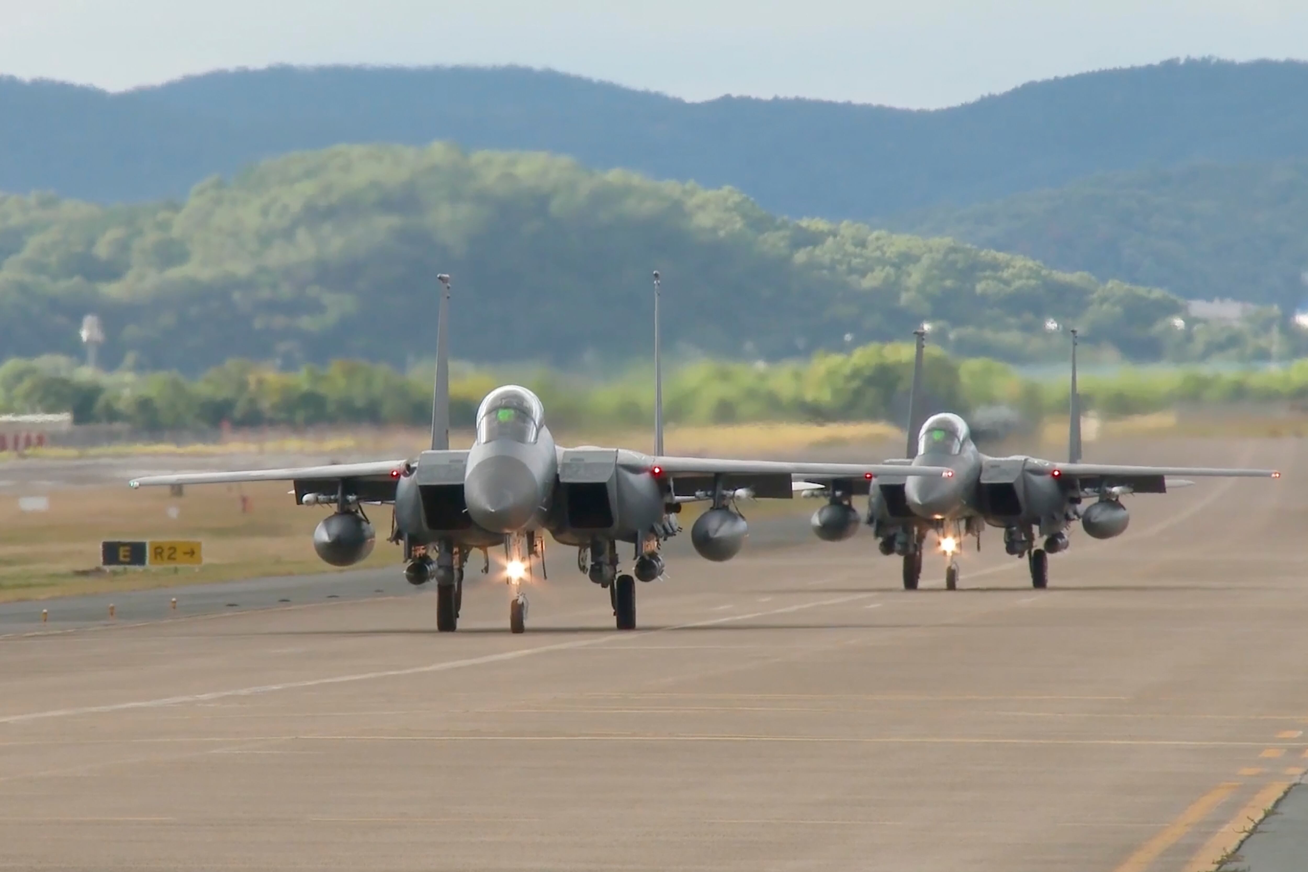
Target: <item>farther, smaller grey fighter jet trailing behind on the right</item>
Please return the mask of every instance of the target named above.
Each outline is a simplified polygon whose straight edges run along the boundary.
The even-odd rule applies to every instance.
[[[929,537],[946,558],[944,586],[959,583],[959,550],[965,537],[976,539],[986,526],[1003,531],[1005,550],[1025,558],[1031,584],[1049,584],[1049,554],[1067,550],[1067,532],[1080,522],[1093,539],[1120,536],[1130,522],[1122,497],[1133,493],[1167,493],[1169,488],[1194,484],[1188,477],[1279,478],[1274,469],[1213,469],[1188,467],[1131,467],[1082,463],[1080,395],[1076,390],[1076,331],[1071,333],[1071,399],[1067,460],[1029,456],[991,458],[977,450],[967,422],[957,414],[929,417],[914,429],[922,378],[926,331],[916,331],[917,354],[909,399],[905,464],[897,476],[878,476],[869,495],[866,523],[879,540],[882,554],[897,554],[904,562],[904,588],[917,590],[922,556]],[[950,472],[929,477],[900,477],[916,467],[947,467]],[[1176,477],[1179,476],[1179,477]],[[821,495],[825,492],[816,492]],[[812,526],[825,540],[845,539],[854,529],[828,524],[849,499],[829,495],[831,505],[814,515]],[[835,509],[833,509],[835,506]],[[825,514],[824,514],[825,512]]]

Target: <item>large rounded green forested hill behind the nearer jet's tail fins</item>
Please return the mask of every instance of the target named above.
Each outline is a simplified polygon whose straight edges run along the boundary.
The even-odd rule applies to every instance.
[[[791,222],[732,190],[545,154],[374,145],[212,178],[184,204],[0,197],[0,357],[76,354],[81,316],[97,312],[109,365],[404,365],[430,354],[443,271],[459,357],[612,363],[649,356],[654,268],[683,358],[807,356],[903,340],[923,319],[947,350],[1014,361],[1063,356],[1048,318],[1137,360],[1248,354],[1269,339],[1177,331],[1182,303],[1159,290],[947,239]]]

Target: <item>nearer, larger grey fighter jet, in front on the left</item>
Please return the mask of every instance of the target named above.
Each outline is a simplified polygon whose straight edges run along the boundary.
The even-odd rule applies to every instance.
[[[318,556],[332,566],[352,566],[371,553],[375,532],[364,506],[390,505],[388,541],[403,548],[405,578],[412,584],[436,582],[437,630],[458,626],[468,558],[480,550],[483,571],[489,573],[490,549],[502,549],[496,574],[509,586],[510,630],[522,633],[526,588],[545,571],[545,533],[577,548],[577,567],[608,591],[617,629],[630,630],[636,628],[634,582],[653,582],[663,574],[661,549],[680,531],[676,515],[687,503],[710,503],[692,526],[691,543],[701,557],[722,562],[735,557],[748,536],[740,499],[789,499],[815,485],[832,493],[866,494],[878,475],[893,473],[896,480],[952,475],[947,464],[906,469],[876,463],[664,456],[657,272],[654,455],[557,446],[540,399],[517,384],[490,391],[476,413],[475,443],[468,450],[451,450],[450,277],[438,280],[442,292],[429,451],[377,463],[150,476],[131,481],[131,486],[289,481],[298,503],[334,509],[314,531]],[[855,512],[846,520],[857,526],[859,516]],[[630,574],[621,570],[620,545],[630,546]]]

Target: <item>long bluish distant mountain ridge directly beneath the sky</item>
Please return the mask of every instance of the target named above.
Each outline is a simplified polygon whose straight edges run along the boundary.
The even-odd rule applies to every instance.
[[[1196,159],[1308,156],[1308,64],[1164,63],[939,111],[687,103],[521,68],[272,68],[123,94],[0,80],[0,190],[183,197],[212,174],[339,143],[545,150],[732,186],[790,216],[871,218]]]

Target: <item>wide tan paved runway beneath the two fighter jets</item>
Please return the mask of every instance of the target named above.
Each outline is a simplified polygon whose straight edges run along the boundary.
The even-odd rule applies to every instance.
[[[438,635],[373,577],[129,626],[10,607],[0,863],[1211,869],[1308,765],[1301,454],[1168,451],[1284,477],[1137,497],[1049,591],[991,531],[954,592],[871,537],[678,557],[623,634],[560,548],[518,637],[498,586]]]

